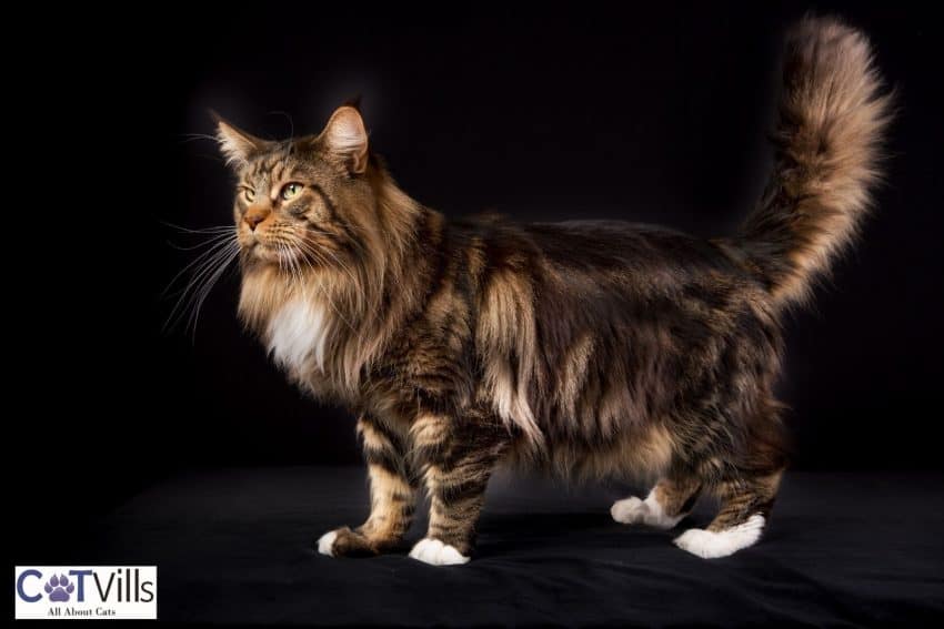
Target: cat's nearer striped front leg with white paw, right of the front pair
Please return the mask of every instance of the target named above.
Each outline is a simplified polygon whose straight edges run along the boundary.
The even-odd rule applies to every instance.
[[[411,457],[430,495],[429,529],[410,557],[433,566],[465,564],[485,487],[509,434],[490,419],[424,413],[410,437]]]

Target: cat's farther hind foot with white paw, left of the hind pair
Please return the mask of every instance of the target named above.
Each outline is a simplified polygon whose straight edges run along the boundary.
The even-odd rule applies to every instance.
[[[700,480],[673,474],[656,483],[644,500],[635,496],[616,500],[610,508],[610,515],[622,524],[674,528],[692,510],[700,491]]]

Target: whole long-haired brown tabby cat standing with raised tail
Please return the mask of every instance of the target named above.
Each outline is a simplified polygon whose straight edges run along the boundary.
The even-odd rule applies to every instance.
[[[356,108],[264,141],[220,120],[238,174],[239,312],[301,388],[359,416],[371,511],[318,541],[334,557],[398,547],[469,560],[503,460],[657,479],[611,509],[706,528],[675,544],[723,557],[761,535],[785,466],[780,321],[854,236],[890,100],[865,37],[807,18],[786,42],[775,168],[729,237],[620,222],[453,221],[396,186]]]

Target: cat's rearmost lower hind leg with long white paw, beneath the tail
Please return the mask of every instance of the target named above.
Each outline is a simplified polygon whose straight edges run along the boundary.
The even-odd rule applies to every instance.
[[[706,529],[691,528],[675,546],[705,559],[727,557],[753,546],[770,517],[783,470],[721,483],[721,510]]]

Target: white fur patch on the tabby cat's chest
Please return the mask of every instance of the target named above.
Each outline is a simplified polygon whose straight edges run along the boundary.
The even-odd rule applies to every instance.
[[[324,351],[331,322],[325,310],[311,300],[297,297],[272,317],[269,352],[278,364],[297,375],[317,367],[324,371]]]

